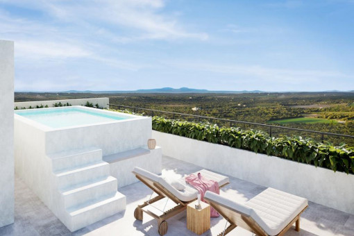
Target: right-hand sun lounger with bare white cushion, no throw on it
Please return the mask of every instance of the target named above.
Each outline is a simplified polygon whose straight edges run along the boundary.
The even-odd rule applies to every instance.
[[[204,199],[230,223],[220,235],[230,233],[237,226],[260,236],[284,235],[294,223],[299,231],[300,215],[307,208],[307,199],[270,187],[246,203],[210,191]]]

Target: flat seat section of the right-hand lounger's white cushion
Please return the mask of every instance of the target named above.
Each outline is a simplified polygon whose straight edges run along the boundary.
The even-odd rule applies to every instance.
[[[278,235],[307,206],[307,199],[271,187],[245,203],[262,219],[257,222],[269,235]]]

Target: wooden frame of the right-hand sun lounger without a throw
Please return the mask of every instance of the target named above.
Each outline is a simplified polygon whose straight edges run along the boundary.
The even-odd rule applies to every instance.
[[[224,217],[224,219],[226,219],[228,223],[230,223],[230,226],[228,226],[228,228],[226,228],[223,232],[219,233],[218,236],[227,235],[228,233],[230,233],[231,230],[233,230],[237,226],[240,226],[241,228],[251,231],[252,233],[255,233],[255,235],[258,236],[268,236],[268,234],[260,227],[260,225],[257,222],[255,222],[254,219],[252,219],[252,217],[243,214],[242,212],[237,212],[235,209],[229,208],[227,205],[216,203],[214,201],[211,201],[210,199],[205,199],[205,200],[215,210],[217,210],[217,212],[219,212],[219,214],[221,214],[221,216]],[[301,210],[301,212],[298,213],[298,215],[296,215],[296,217],[292,219],[292,221],[289,224],[287,224],[287,226],[285,226],[285,228],[283,228],[283,230],[281,230],[277,236],[285,235],[285,233],[287,233],[287,230],[289,230],[289,228],[292,228],[292,225],[294,223],[296,223],[295,230],[300,231],[300,215],[303,213],[304,210],[306,210],[307,207],[308,205],[306,205],[305,208],[303,208],[303,210]],[[235,223],[235,221],[238,222],[238,225]]]

